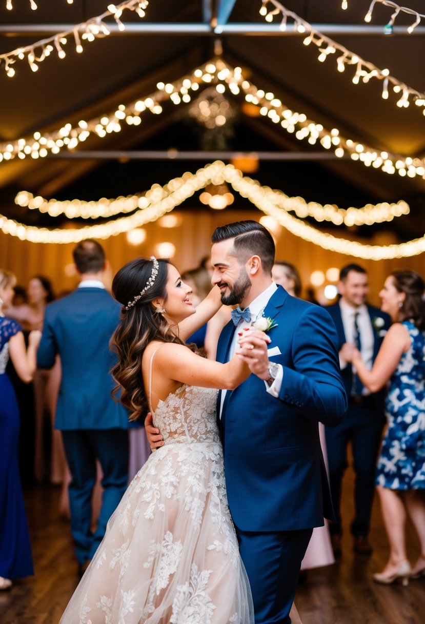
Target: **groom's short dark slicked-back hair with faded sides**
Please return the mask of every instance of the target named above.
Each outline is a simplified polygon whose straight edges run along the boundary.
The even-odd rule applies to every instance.
[[[251,256],[259,256],[264,271],[271,271],[274,265],[275,244],[269,230],[256,221],[236,221],[216,228],[211,242],[234,238],[234,255],[245,262]]]

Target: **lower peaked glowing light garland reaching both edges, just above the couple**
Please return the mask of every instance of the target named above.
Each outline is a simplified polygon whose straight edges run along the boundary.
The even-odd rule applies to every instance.
[[[242,197],[249,199],[265,215],[274,218],[286,230],[324,249],[369,260],[406,258],[425,251],[425,235],[399,245],[363,245],[357,241],[320,232],[274,203],[270,188],[262,187],[256,180],[245,177],[233,165],[224,165],[221,161],[206,165],[194,174],[186,172],[181,178],[170,180],[165,187],[159,187],[163,191],[159,200],[152,201],[144,209],[140,208],[134,215],[118,218],[113,222],[79,229],[47,230],[23,225],[0,215],[0,230],[34,243],[77,243],[87,237],[108,238],[157,220],[209,184],[222,185],[225,182]],[[151,187],[151,190],[153,188],[156,188],[156,185]]]

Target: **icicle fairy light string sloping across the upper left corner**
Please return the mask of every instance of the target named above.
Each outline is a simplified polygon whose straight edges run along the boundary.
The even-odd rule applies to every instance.
[[[44,61],[51,52],[56,51],[59,59],[64,59],[66,52],[64,47],[69,37],[74,39],[75,51],[81,54],[84,51],[82,41],[92,42],[100,37],[107,37],[110,34],[108,26],[105,23],[105,17],[112,16],[115,22],[118,24],[120,31],[125,30],[123,22],[120,20],[123,11],[134,11],[139,17],[145,17],[145,9],[149,4],[149,0],[126,0],[115,6],[115,4],[109,4],[107,11],[103,12],[97,17],[92,17],[86,22],[76,24],[69,31],[58,32],[52,37],[37,41],[30,46],[19,47],[11,52],[0,54],[0,66],[4,65],[4,71],[9,78],[15,76],[16,71],[14,64],[17,61],[23,61],[27,59],[29,66],[33,72],[38,71],[39,64]]]

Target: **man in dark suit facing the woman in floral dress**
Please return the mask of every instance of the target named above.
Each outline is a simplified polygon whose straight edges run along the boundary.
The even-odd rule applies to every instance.
[[[335,555],[341,552],[341,484],[347,466],[347,446],[351,443],[355,480],[355,517],[351,522],[351,534],[356,552],[369,555],[368,541],[370,515],[375,492],[376,457],[384,425],[383,392],[371,394],[361,384],[351,364],[344,359],[350,344],[361,351],[363,361],[371,368],[381,346],[388,314],[366,304],[368,276],[362,266],[350,264],[340,271],[338,290],[341,298],[328,306],[338,333],[338,351],[341,374],[348,399],[345,420],[337,427],[326,427],[330,488],[337,522],[330,525]]]

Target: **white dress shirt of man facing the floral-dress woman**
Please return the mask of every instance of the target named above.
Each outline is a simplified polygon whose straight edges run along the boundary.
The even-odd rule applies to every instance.
[[[354,339],[354,317],[357,317],[358,331],[361,336],[361,359],[366,365],[366,368],[370,370],[373,364],[373,348],[375,345],[375,338],[373,336],[373,327],[370,319],[368,308],[365,304],[353,308],[349,303],[346,303],[343,299],[340,299],[341,319],[345,333],[345,340],[347,343],[355,344]],[[346,368],[347,363],[345,359],[340,356],[341,369]],[[355,368],[353,367],[353,373]],[[370,394],[368,389],[363,389],[363,394]]]

